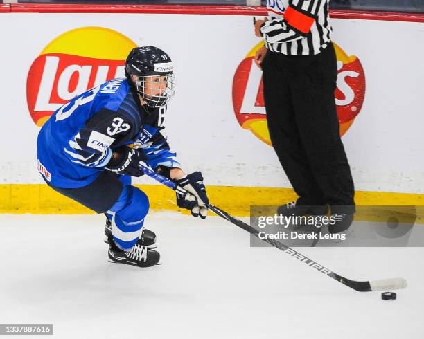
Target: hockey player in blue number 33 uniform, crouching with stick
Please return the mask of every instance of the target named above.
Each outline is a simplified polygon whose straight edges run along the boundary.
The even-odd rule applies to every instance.
[[[134,48],[125,77],[90,89],[60,107],[39,131],[37,167],[53,190],[106,213],[111,262],[140,267],[159,262],[156,235],[143,228],[148,197],[130,185],[139,162],[191,194],[177,205],[206,217],[209,203],[200,172],[186,175],[164,131],[166,104],[175,93],[173,62],[154,46]],[[141,147],[129,147],[134,144]]]

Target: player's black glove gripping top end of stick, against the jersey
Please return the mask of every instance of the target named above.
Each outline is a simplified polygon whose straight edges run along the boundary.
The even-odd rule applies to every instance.
[[[122,146],[115,149],[114,153],[118,153],[120,156],[118,160],[110,161],[105,167],[106,170],[129,176],[142,176],[144,174],[139,167],[139,162],[145,161],[147,157],[141,149]]]

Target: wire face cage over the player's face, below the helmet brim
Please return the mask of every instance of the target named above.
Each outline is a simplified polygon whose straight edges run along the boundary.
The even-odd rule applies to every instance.
[[[137,91],[150,107],[162,107],[175,94],[175,75],[144,75],[136,81]]]

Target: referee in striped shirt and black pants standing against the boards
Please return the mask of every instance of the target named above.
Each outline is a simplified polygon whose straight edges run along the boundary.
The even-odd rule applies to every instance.
[[[272,145],[299,195],[278,212],[322,215],[329,205],[335,223],[328,230],[337,233],[351,226],[355,190],[339,135],[328,2],[268,0],[268,18],[255,21],[265,40],[255,62],[263,69]]]

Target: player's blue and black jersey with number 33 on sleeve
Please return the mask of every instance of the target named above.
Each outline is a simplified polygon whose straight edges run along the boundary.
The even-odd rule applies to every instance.
[[[181,167],[164,131],[165,107],[142,107],[127,79],[90,89],[60,107],[37,138],[37,167],[55,187],[92,183],[109,163],[112,150],[141,143],[148,165]]]

